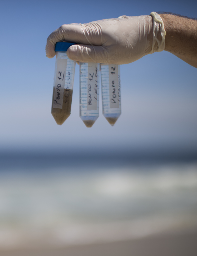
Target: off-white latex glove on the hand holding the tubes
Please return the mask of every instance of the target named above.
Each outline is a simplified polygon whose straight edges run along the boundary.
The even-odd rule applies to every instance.
[[[160,18],[159,15],[157,17]],[[67,55],[72,60],[108,64],[131,63],[164,49],[165,43],[164,47],[160,47],[160,43],[156,42],[160,40],[153,40],[155,32],[156,37],[161,39],[158,24],[156,22],[154,27],[152,16],[145,15],[62,25],[47,38],[46,55],[48,58],[54,57],[56,42],[64,41],[78,44],[67,50]]]

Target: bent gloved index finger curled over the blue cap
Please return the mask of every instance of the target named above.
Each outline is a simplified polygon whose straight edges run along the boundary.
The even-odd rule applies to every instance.
[[[55,56],[57,42],[101,45],[100,34],[100,28],[95,23],[62,25],[47,38],[46,56],[48,58]]]

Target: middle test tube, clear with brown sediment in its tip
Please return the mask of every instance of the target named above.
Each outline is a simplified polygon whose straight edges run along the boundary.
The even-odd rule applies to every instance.
[[[92,127],[99,112],[99,73],[97,63],[79,63],[80,118],[86,127]]]

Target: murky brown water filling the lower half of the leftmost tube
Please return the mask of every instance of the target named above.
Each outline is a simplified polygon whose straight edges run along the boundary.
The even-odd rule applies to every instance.
[[[53,87],[53,98],[54,98],[54,92],[55,92],[55,87]],[[64,89],[62,108],[53,108],[53,98],[52,98],[51,114],[58,125],[62,125],[63,122],[70,116],[72,92],[73,90]]]

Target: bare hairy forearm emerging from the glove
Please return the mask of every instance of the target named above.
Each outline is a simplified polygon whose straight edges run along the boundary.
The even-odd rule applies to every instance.
[[[197,21],[159,14],[166,30],[165,50],[197,68]]]

